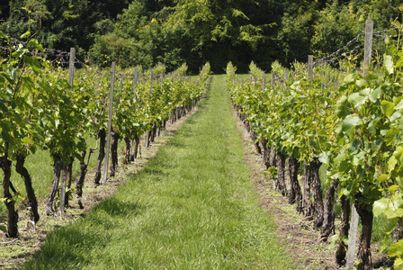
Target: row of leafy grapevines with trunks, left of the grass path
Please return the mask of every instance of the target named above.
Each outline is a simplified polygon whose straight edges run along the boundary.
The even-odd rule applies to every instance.
[[[89,160],[86,156],[94,151],[88,148],[88,138],[99,139],[94,182],[100,184],[101,165],[107,164],[108,160],[103,161],[103,158],[109,157],[105,154],[106,137],[112,137],[110,176],[113,176],[118,165],[118,141],[124,139],[125,162],[130,163],[136,157],[142,134],[147,132],[148,139],[152,140],[157,129],[162,129],[169,118],[174,121],[175,115],[192,109],[194,101],[203,94],[203,85],[210,72],[210,66],[206,65],[199,80],[191,81],[184,77],[185,65],[171,75],[164,75],[166,67],[163,65],[143,71],[143,76],[139,76],[139,68],[121,70],[121,89],[114,94],[111,90],[109,94],[112,85],[119,85],[115,82],[114,65],[112,70],[103,72],[97,68],[82,68],[77,72],[76,80],[73,81],[70,74],[67,81],[66,70],[51,67],[49,61],[38,56],[44,52],[38,40],[31,39],[26,46],[13,48],[12,40],[1,31],[0,39],[11,48],[8,56],[1,58],[0,66],[0,167],[3,170],[2,201],[7,208],[7,234],[13,238],[18,235],[15,202],[19,195],[10,180],[14,162],[16,172],[24,179],[31,221],[37,222],[40,219],[38,202],[25,158],[38,148],[49,150],[54,178],[46,203],[47,213],[63,212],[68,203],[64,191],[72,184],[74,160],[79,161],[81,169],[76,193],[78,196],[83,193]],[[106,153],[108,150],[106,148]],[[62,171],[64,177],[60,179]],[[107,169],[103,172],[106,175]],[[105,183],[106,177],[103,179]]]

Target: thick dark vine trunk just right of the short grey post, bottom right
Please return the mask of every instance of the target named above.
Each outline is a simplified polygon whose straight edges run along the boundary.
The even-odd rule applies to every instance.
[[[358,215],[363,224],[363,231],[361,233],[361,242],[358,248],[357,258],[361,261],[357,266],[357,270],[370,270],[372,269],[372,256],[371,256],[371,238],[372,238],[372,220],[373,212],[368,211],[367,208],[371,205],[355,203]]]

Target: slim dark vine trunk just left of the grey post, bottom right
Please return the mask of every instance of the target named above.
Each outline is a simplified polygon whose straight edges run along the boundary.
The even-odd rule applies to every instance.
[[[345,255],[347,254],[347,246],[343,241],[343,238],[348,238],[348,231],[350,230],[350,202],[345,195],[340,198],[340,205],[342,207],[342,224],[340,229],[340,242],[336,250],[336,263],[338,266],[345,266]]]

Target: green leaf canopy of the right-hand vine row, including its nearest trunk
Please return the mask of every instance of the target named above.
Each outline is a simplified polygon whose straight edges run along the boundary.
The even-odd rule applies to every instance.
[[[392,27],[380,66],[367,73],[345,61],[337,70],[315,67],[309,78],[307,69],[296,63],[289,80],[264,87],[264,73],[254,64],[255,79],[243,83],[233,81],[234,67],[228,64],[232,99],[260,139],[301,163],[318,157],[336,179],[339,197],[354,203],[363,224],[359,269],[372,266],[373,215],[391,220],[389,235],[402,226],[403,27]],[[277,76],[283,77],[281,71],[273,65]],[[390,257],[397,256],[395,269],[402,269],[403,240],[399,234],[395,238],[399,241],[390,247],[386,241],[385,247]]]

